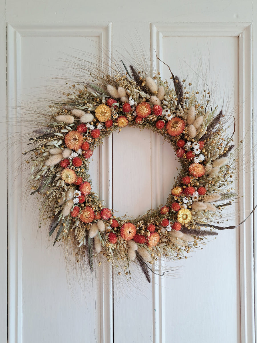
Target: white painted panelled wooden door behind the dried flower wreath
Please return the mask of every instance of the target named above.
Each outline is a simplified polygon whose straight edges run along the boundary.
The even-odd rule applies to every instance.
[[[3,13],[3,1],[1,5]],[[20,128],[21,116],[26,117],[21,107],[31,106],[40,112],[40,106],[47,102],[39,105],[36,100],[53,99],[52,88],[62,91],[65,74],[73,72],[74,82],[83,80],[83,75],[62,62],[72,61],[72,55],[83,58],[84,53],[95,54],[101,61],[102,46],[118,57],[133,47],[139,56],[146,51],[152,65],[169,79],[169,70],[157,63],[156,51],[173,73],[182,79],[188,74],[192,83],[202,76],[198,67],[203,66],[209,87],[215,85],[213,80],[218,84],[220,98],[214,106],[222,105],[224,94],[225,100],[230,99],[228,110],[236,108],[235,139],[247,135],[237,177],[240,196],[245,197],[229,216],[235,223],[240,209],[242,220],[253,201],[249,123],[254,11],[250,0],[243,6],[239,0],[210,1],[208,5],[204,0],[6,1],[10,343],[254,342],[251,218],[240,229],[222,232],[187,260],[163,261],[162,269],[175,270],[164,277],[153,275],[151,284],[137,270],[128,283],[108,267],[96,267],[95,274],[87,271],[78,277],[78,264],[67,274],[61,249],[52,247],[46,229],[37,230],[35,199],[24,201],[26,175],[19,171],[19,156],[25,143],[22,135],[16,134],[33,126],[25,119]],[[4,20],[1,23],[4,50]],[[4,59],[2,63],[4,66]],[[4,95],[4,82],[2,87]],[[243,161],[244,152],[247,161]],[[107,206],[127,215],[143,214],[165,202],[179,166],[160,137],[132,128],[113,134],[94,156],[90,166],[93,189]],[[2,229],[0,305],[6,310],[5,225]],[[7,335],[5,310],[0,327],[3,342]]]

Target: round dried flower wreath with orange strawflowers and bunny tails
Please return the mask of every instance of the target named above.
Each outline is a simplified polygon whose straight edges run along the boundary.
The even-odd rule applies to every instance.
[[[30,144],[31,194],[41,197],[40,213],[50,219],[49,235],[74,249],[77,260],[101,259],[126,275],[129,264],[140,265],[150,282],[148,263],[161,256],[186,258],[205,236],[216,235],[212,223],[220,219],[231,189],[233,149],[222,124],[223,113],[211,108],[210,92],[187,91],[172,74],[172,83],[160,73],[149,76],[130,66],[132,76],[115,70],[114,76],[94,75],[50,105],[46,123],[37,128]],[[126,69],[127,70],[127,69]],[[189,83],[190,89],[192,88]],[[171,144],[181,163],[166,204],[134,220],[116,217],[92,191],[89,160],[103,138],[126,126],[147,128]],[[25,152],[25,154],[28,151]],[[219,226],[212,226],[219,228]]]

